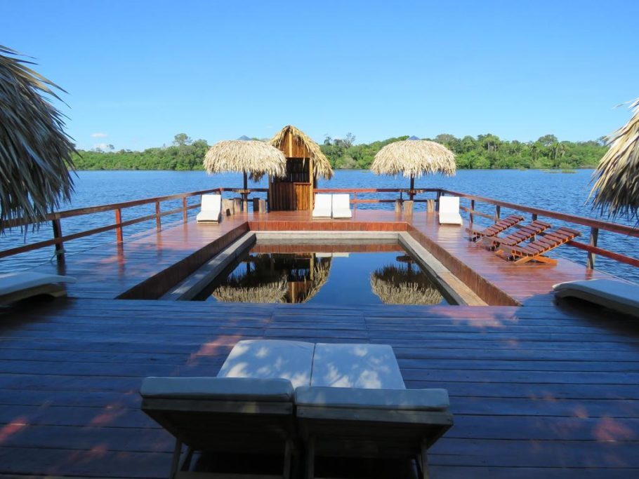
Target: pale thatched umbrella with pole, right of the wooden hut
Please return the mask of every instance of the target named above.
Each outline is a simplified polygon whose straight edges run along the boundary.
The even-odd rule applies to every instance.
[[[371,165],[377,175],[402,173],[411,179],[410,199],[414,197],[415,178],[422,175],[443,173],[452,176],[456,172],[455,155],[443,144],[428,140],[403,140],[393,142],[377,152]]]

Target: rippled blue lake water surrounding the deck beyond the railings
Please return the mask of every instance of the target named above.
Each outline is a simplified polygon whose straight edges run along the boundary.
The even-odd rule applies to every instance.
[[[468,194],[487,196],[512,203],[536,206],[572,215],[598,217],[597,213],[586,205],[586,198],[590,191],[592,170],[577,170],[577,173],[546,173],[539,170],[460,170],[454,177],[422,177],[416,180],[416,187],[441,187]],[[81,171],[76,180],[76,191],[67,208],[81,208],[104,203],[119,203],[152,196],[198,191],[213,187],[241,187],[242,177],[237,174],[209,176],[202,171]],[[254,184],[254,187],[266,187],[266,181]],[[250,185],[249,185],[250,186]],[[408,180],[403,177],[376,176],[369,171],[338,170],[330,181],[321,180],[319,187],[325,188],[406,188]],[[381,195],[358,194],[358,198],[380,198]],[[394,198],[394,194],[388,194]],[[197,198],[191,198],[190,203],[197,203]],[[162,204],[164,210],[178,208],[179,202]],[[393,208],[393,204],[358,205],[357,208]],[[417,210],[423,210],[423,205],[417,205]],[[477,205],[477,209],[489,214],[494,213],[491,205]],[[145,205],[124,210],[123,220],[154,212],[153,205]],[[196,211],[192,210],[191,216]],[[502,210],[502,215],[508,215],[508,210]],[[164,217],[164,224],[180,220],[181,215]],[[104,212],[89,217],[70,218],[62,220],[64,234],[100,227],[114,222],[113,212]],[[489,220],[476,219],[477,224],[488,224]],[[551,221],[553,226],[560,226],[561,222]],[[617,220],[621,224],[634,226],[633,222]],[[154,220],[135,224],[124,229],[125,238],[134,234],[142,234],[154,227]],[[588,241],[589,229],[578,227]],[[88,248],[98,247],[100,244],[112,241],[114,231],[81,238],[65,244],[67,255],[74,255]],[[50,226],[42,227],[40,231],[28,231],[26,236],[19,231],[9,231],[0,237],[0,249],[14,248],[17,245],[32,243],[51,238]],[[599,245],[625,255],[636,256],[639,240],[628,238],[607,231],[600,231]],[[53,248],[44,248],[36,252],[15,255],[0,259],[0,271],[15,271],[37,267],[39,264],[52,260]],[[586,253],[577,248],[558,248],[557,255],[568,257],[585,264]],[[608,271],[617,276],[639,282],[639,271],[633,267],[618,264],[611,260],[598,257],[598,269]]]

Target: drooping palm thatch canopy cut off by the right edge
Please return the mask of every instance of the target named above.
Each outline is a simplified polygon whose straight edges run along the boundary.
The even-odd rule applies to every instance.
[[[607,139],[610,149],[595,170],[590,194],[593,208],[612,217],[639,216],[639,98],[630,108],[630,121]]]

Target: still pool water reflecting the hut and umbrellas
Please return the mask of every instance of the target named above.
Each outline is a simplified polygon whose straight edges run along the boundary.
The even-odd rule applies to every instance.
[[[312,248],[312,246],[310,247]],[[254,245],[196,301],[298,304],[448,304],[399,244],[385,251],[303,251]],[[316,247],[317,248],[317,247]],[[291,252],[286,252],[286,250]],[[284,250],[284,252],[282,252]]]

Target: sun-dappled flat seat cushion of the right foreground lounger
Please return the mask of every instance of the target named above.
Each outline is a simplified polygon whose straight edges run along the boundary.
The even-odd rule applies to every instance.
[[[311,386],[405,389],[400,366],[388,344],[315,345]]]

